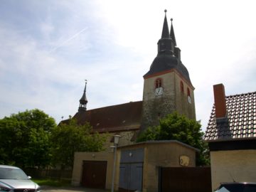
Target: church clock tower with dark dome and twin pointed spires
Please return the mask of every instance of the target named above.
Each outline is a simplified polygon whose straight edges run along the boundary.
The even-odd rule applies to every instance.
[[[165,10],[164,26],[157,43],[158,53],[143,76],[142,129],[159,124],[160,118],[175,111],[196,119],[194,87],[181,62],[181,50],[176,46],[172,21],[169,31]]]

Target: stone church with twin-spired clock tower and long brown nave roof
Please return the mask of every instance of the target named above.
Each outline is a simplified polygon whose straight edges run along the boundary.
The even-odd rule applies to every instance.
[[[181,62],[171,19],[169,30],[166,14],[158,53],[143,76],[143,100],[87,110],[86,84],[80,107],[73,118],[78,124],[89,122],[95,132],[120,134],[120,144],[132,144],[139,131],[159,123],[159,119],[176,111],[196,119],[194,87],[188,70]]]

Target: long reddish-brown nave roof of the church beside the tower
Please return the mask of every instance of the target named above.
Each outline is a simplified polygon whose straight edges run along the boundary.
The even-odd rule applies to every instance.
[[[78,111],[73,118],[78,124],[89,122],[95,132],[136,130],[141,125],[142,101]]]

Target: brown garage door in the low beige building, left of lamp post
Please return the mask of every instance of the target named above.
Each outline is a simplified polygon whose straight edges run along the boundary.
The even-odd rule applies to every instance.
[[[107,161],[83,161],[82,186],[105,188]]]

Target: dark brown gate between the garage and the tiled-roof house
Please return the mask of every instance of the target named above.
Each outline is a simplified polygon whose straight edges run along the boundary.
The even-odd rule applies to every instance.
[[[159,191],[211,192],[210,167],[162,167]]]

